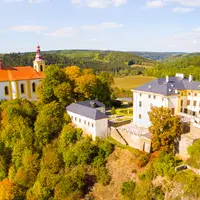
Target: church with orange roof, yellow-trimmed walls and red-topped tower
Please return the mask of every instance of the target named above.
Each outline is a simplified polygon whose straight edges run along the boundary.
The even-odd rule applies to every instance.
[[[44,77],[45,67],[39,45],[37,46],[33,67],[4,68],[0,60],[0,100],[25,98],[36,101],[36,89]]]

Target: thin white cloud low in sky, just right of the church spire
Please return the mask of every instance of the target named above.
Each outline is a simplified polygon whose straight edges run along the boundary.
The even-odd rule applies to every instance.
[[[74,29],[72,27],[64,27],[56,30],[55,32],[46,33],[45,35],[55,37],[69,37],[75,35],[78,31],[78,29]]]

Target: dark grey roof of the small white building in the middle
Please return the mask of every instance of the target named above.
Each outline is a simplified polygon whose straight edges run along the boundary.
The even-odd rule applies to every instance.
[[[107,115],[105,115],[101,111],[95,108],[81,105],[80,103],[72,103],[66,107],[66,110],[93,120],[108,118]]]

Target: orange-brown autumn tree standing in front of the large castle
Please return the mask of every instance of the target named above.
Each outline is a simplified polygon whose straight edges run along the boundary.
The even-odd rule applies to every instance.
[[[175,140],[182,134],[182,124],[178,116],[173,116],[168,108],[153,107],[149,112],[152,133],[152,150],[172,151]]]

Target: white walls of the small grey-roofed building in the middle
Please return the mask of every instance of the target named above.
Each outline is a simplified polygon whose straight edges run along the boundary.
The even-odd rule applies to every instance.
[[[73,117],[72,123],[75,124],[77,127],[82,128],[83,131],[92,136],[92,139],[95,140],[96,137],[105,137],[107,136],[108,132],[108,119],[102,119],[102,120],[92,120],[87,117],[78,115],[76,113],[72,113],[70,111],[67,111],[67,113]],[[76,120],[75,120],[76,118]],[[81,119],[81,122],[79,122],[79,119]],[[86,122],[86,124],[85,124]],[[89,125],[88,125],[89,122]],[[93,127],[92,127],[93,124]]]

